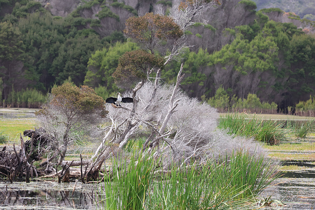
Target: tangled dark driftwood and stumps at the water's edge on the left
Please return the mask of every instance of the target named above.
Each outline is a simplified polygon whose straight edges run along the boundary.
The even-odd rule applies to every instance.
[[[52,152],[52,155],[48,155],[45,159],[42,158],[47,150],[54,151],[54,146],[51,144],[53,137],[45,132],[43,128],[25,130],[23,133],[24,136],[31,139],[25,142],[22,135],[20,135],[20,148],[16,148],[13,144],[13,148],[4,146],[0,150],[0,176],[7,177],[11,183],[17,180],[18,177],[20,180],[24,178],[27,182],[30,182],[30,178],[34,176],[36,178],[56,177],[59,182],[69,182],[70,179],[86,181],[90,161],[83,160],[81,155],[81,160],[63,161],[60,164],[63,169],[58,171],[54,164],[57,156],[56,152]],[[34,161],[40,160],[39,165],[33,166]],[[81,169],[70,169],[72,166],[81,166]]]

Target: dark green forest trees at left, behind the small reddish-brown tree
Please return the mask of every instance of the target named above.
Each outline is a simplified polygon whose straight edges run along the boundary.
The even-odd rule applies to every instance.
[[[11,106],[37,107],[42,99],[28,99],[19,92],[25,95],[32,90],[32,95],[36,91],[45,95],[68,77],[82,85],[92,53],[125,39],[121,32],[102,39],[95,30],[84,28],[87,23],[97,25],[97,20],[75,14],[93,3],[99,2],[87,3],[62,18],[53,17],[37,1],[18,0],[15,5],[1,2],[12,8],[11,14],[0,17],[1,102],[4,99]]]

